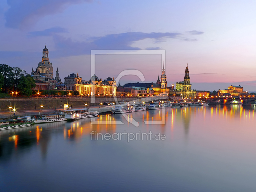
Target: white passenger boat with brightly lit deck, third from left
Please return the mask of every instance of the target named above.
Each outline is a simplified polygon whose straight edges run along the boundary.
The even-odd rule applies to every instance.
[[[63,111],[65,113],[65,118],[67,120],[84,119],[84,118],[95,117],[99,115],[98,111],[91,111],[88,108],[67,109]]]

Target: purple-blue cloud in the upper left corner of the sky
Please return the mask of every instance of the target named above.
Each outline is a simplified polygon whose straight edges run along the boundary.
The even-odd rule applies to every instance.
[[[71,4],[92,2],[92,0],[7,0],[9,9],[5,12],[5,26],[27,28],[40,18],[62,12]]]

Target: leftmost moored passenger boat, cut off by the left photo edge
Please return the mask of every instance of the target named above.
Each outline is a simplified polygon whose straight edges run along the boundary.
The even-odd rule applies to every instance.
[[[22,127],[28,127],[33,124],[32,120],[28,119],[8,119],[8,120],[1,120],[0,121],[0,131],[7,130],[7,129],[16,129]]]

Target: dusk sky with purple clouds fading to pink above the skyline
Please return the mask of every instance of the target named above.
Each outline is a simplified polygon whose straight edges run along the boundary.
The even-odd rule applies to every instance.
[[[60,78],[91,76],[91,50],[165,50],[167,85],[183,81],[188,63],[192,89],[241,85],[256,91],[256,1],[1,0],[0,64],[31,73],[45,44]],[[156,83],[161,56],[102,54],[95,74],[117,77],[140,70]],[[55,75],[54,75],[55,76]],[[123,85],[141,82],[125,76]]]

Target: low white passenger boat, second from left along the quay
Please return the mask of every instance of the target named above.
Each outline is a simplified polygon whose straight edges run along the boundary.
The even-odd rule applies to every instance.
[[[52,123],[58,121],[67,121],[63,110],[57,111],[56,114],[44,114],[41,118],[34,119],[34,124]]]

